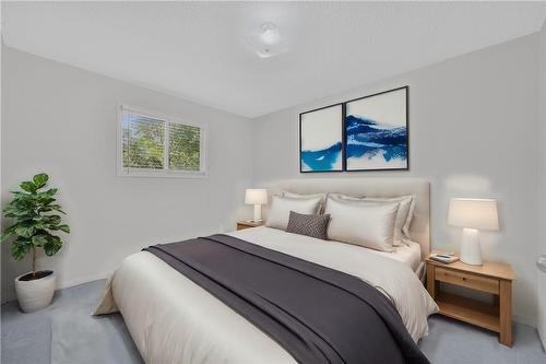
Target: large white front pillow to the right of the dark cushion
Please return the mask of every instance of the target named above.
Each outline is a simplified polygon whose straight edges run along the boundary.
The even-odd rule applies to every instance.
[[[400,202],[356,201],[329,197],[328,238],[367,248],[393,251],[394,224]]]

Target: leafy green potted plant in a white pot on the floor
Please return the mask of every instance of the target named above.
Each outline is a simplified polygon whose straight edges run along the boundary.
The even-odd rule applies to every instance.
[[[21,183],[21,190],[12,192],[13,199],[3,209],[3,215],[15,222],[3,231],[1,240],[15,237],[11,255],[17,261],[32,254],[32,271],[15,278],[19,305],[25,313],[49,306],[55,292],[56,273],[36,270],[37,248],[52,256],[62,247],[62,239],[56,233],[70,233],[69,225],[58,214],[64,212],[56,203],[57,188],[46,189],[48,179],[47,174],[40,173],[33,180]]]

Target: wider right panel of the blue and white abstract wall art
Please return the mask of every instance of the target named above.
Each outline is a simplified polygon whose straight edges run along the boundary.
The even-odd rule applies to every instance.
[[[346,104],[346,169],[407,169],[407,87]]]

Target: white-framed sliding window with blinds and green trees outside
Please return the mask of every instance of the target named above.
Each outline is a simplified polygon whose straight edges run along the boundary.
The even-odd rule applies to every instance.
[[[121,106],[118,172],[122,176],[206,176],[203,126]]]

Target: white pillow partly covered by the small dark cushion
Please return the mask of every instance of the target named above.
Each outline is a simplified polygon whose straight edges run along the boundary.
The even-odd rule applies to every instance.
[[[290,211],[306,215],[314,215],[320,209],[321,201],[321,197],[295,199],[273,196],[271,198],[271,207],[268,214],[268,221],[265,221],[265,226],[286,230],[290,218]]]

